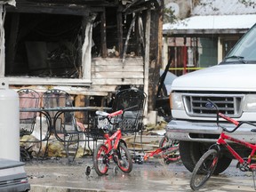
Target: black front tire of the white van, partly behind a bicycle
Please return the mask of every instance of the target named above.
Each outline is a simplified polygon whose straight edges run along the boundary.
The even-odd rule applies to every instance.
[[[204,147],[203,144],[199,142],[182,141],[180,140],[180,158],[184,166],[189,172],[193,172],[196,163],[199,161],[200,157],[204,155],[208,148]],[[219,162],[213,174],[219,174],[224,172],[229,164],[231,164],[232,158],[227,156],[220,156]]]

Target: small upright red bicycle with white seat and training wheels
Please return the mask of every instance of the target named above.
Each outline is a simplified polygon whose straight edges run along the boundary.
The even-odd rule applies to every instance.
[[[103,111],[96,112],[96,115],[100,116],[99,118],[101,120],[108,119],[109,123],[103,127],[104,138],[106,141],[104,144],[97,145],[93,152],[93,167],[99,176],[108,172],[108,167],[112,159],[122,172],[132,172],[132,156],[126,147],[125,141],[122,140],[121,129],[117,128],[116,132],[111,136],[109,135],[109,125],[118,124],[118,121],[113,123],[111,119],[115,116],[123,115],[123,113],[123,110],[118,110],[111,114]],[[121,119],[123,119],[123,117],[121,117]]]

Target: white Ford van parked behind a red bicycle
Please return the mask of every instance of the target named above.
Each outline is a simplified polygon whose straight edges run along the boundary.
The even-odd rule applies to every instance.
[[[205,108],[208,99],[223,114],[237,121],[256,123],[256,25],[220,64],[175,78],[170,98],[173,119],[166,127],[166,134],[172,140],[180,140],[181,160],[192,172],[200,156],[220,134],[215,111]],[[223,124],[232,126],[224,121]],[[256,143],[256,133],[251,129],[250,125],[244,125],[232,134]],[[248,156],[245,148],[237,149],[244,158]],[[215,173],[225,171],[231,160],[232,156],[224,152]]]

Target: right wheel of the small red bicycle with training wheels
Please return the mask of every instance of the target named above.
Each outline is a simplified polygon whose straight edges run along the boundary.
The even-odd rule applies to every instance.
[[[124,143],[119,143],[117,148],[117,166],[122,172],[132,172],[132,156],[124,146]]]

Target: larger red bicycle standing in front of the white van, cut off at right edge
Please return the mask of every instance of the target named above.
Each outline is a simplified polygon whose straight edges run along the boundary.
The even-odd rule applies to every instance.
[[[199,159],[197,162],[192,177],[190,180],[190,188],[193,190],[198,190],[199,188],[202,188],[207,180],[210,179],[212,176],[212,173],[214,172],[218,159],[220,157],[220,150],[222,150],[221,147],[227,148],[228,151],[232,156],[234,156],[238,160],[237,167],[242,172],[252,171],[252,179],[255,188],[255,172],[256,172],[256,164],[253,163],[252,157],[254,157],[255,151],[256,151],[256,144],[252,144],[249,142],[246,142],[244,140],[237,140],[231,136],[229,136],[226,132],[235,132],[242,124],[250,124],[252,126],[256,126],[256,124],[252,124],[250,122],[238,122],[235,119],[232,119],[228,116],[223,115],[219,112],[219,108],[216,104],[214,104],[211,100],[208,100],[209,102],[206,103],[206,108],[216,108],[217,113],[217,125],[221,128],[220,137],[217,140],[215,144],[213,144],[208,151],[204,153],[204,155]],[[233,130],[228,130],[227,128],[223,127],[219,123],[219,117],[227,120],[228,122],[235,124],[236,127]],[[252,129],[251,132],[256,132],[256,129]],[[235,142],[238,145],[242,145],[245,148],[249,148],[251,153],[248,158],[243,158],[240,156],[234,148],[232,148],[226,140],[230,140]]]

